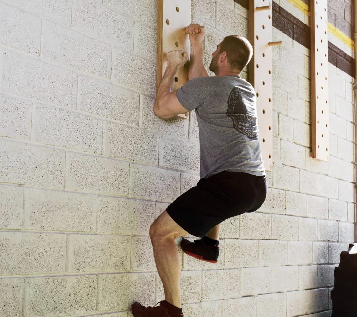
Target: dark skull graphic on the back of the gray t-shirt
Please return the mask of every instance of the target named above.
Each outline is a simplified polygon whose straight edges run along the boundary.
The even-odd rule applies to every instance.
[[[233,127],[250,139],[258,138],[258,118],[248,113],[247,107],[251,102],[254,93],[251,91],[240,88],[239,86],[233,87],[228,97],[227,116],[232,118]],[[246,102],[245,102],[246,101]],[[252,108],[252,107],[251,107]],[[254,110],[254,109],[252,109]]]

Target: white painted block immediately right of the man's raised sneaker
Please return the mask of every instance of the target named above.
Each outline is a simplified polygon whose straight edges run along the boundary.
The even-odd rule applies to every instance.
[[[225,239],[224,263],[225,268],[257,266],[258,240]]]

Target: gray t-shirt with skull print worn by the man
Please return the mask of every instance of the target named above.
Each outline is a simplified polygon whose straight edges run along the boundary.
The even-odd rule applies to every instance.
[[[250,83],[240,76],[197,77],[176,95],[188,111],[196,109],[201,178],[224,170],[265,175],[256,95]]]

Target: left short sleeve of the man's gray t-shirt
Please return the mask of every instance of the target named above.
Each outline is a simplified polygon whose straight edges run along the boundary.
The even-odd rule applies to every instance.
[[[208,98],[208,78],[192,78],[176,90],[177,99],[185,109],[188,111],[196,109]]]

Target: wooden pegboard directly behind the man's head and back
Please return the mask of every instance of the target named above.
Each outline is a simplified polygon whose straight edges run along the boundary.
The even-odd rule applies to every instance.
[[[267,9],[268,6],[268,9]],[[257,9],[258,7],[258,9]],[[265,7],[264,9],[260,9]],[[249,40],[253,56],[249,81],[257,94],[258,129],[265,170],[273,169],[272,3],[249,0]]]

